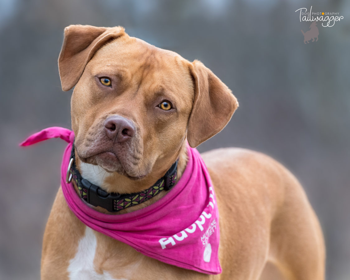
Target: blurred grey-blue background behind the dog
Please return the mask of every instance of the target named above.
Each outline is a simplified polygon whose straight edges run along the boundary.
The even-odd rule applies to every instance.
[[[339,12],[334,27],[299,8]],[[273,156],[303,184],[323,228],[327,279],[350,279],[350,2],[259,0],[0,0],[0,279],[39,279],[44,226],[65,142],[18,143],[70,128],[57,58],[70,24],[124,26],[200,59],[239,100],[229,125],[198,150],[239,146]]]

